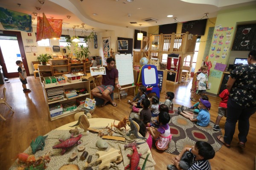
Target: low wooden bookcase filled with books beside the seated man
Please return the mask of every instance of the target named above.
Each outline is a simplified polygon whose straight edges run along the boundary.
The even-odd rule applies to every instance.
[[[45,99],[45,102],[47,103],[49,119],[51,121],[65,117],[65,116],[69,116],[69,115],[77,113],[79,111],[77,109],[73,109],[70,111],[59,113],[59,115],[55,116],[53,112],[51,114],[49,105],[51,106],[52,104],[57,104],[58,102],[61,105],[70,103],[70,102],[76,103],[76,99],[79,97],[90,98],[90,82],[89,81],[74,82],[74,83],[70,83],[70,82],[66,81],[66,83],[64,83],[64,84],[59,84],[59,85],[54,85],[54,86],[49,86],[49,87],[45,87],[45,85],[42,83],[42,87],[43,87],[43,91],[44,91],[44,99]],[[64,99],[63,98],[56,99],[56,100],[53,99],[51,102],[48,101],[48,98],[50,98],[51,93],[54,94],[54,93],[58,93],[58,91],[61,91],[60,93],[58,93],[59,96],[61,96],[62,94],[64,95],[64,91],[66,89],[70,89],[70,88],[74,88],[74,89],[85,88],[87,93],[79,94],[78,96],[74,96],[71,98],[67,98],[66,96],[64,96]],[[64,89],[64,90],[62,90],[62,89]]]

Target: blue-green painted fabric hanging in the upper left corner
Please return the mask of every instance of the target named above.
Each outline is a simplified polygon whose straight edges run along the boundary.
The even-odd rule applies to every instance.
[[[32,32],[31,15],[0,7],[0,22],[6,30]]]

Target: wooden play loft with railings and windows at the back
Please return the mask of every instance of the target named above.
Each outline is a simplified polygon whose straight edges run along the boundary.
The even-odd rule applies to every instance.
[[[181,81],[182,76],[191,74],[192,61],[195,53],[195,43],[197,35],[189,34],[189,32],[182,34],[154,34],[150,37],[143,37],[141,41],[140,51],[134,51],[134,63],[139,63],[142,57],[147,57],[150,64],[159,67],[162,61],[163,54],[177,54],[169,55],[167,59],[168,72],[172,72],[172,79],[170,82],[177,83]],[[189,66],[183,66],[184,59],[190,56]],[[185,73],[185,75],[184,75]],[[168,80],[168,75],[167,75]]]

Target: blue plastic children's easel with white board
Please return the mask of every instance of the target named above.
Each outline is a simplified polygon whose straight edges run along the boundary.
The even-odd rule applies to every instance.
[[[147,87],[146,94],[155,93],[160,98],[160,89],[158,88],[158,73],[155,65],[143,65],[141,68],[142,84]],[[148,88],[150,86],[150,88]]]

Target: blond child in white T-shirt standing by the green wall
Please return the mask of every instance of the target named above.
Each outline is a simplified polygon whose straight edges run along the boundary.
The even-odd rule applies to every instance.
[[[190,99],[193,101],[193,102],[196,102],[195,100],[195,95],[196,94],[201,94],[202,96],[206,94],[206,89],[209,87],[208,86],[208,74],[207,74],[207,65],[202,65],[200,70],[201,70],[201,73],[198,74],[198,76],[196,77],[196,91],[194,90],[191,90],[193,91],[192,92],[192,97],[190,97]]]

